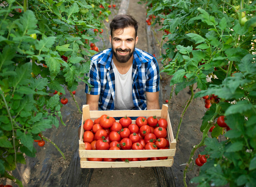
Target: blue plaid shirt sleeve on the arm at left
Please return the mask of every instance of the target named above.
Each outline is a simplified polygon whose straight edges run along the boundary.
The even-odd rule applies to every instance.
[[[99,95],[100,94],[100,76],[99,76],[99,71],[97,68],[97,62],[91,60],[91,68],[89,73],[86,75],[89,77],[88,83],[92,85],[91,89],[90,87],[86,84],[85,85],[85,93],[91,94],[91,95]]]

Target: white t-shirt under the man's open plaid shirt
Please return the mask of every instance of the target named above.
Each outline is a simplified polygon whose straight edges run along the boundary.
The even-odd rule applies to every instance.
[[[132,100],[132,65],[125,74],[120,74],[112,61],[115,74],[115,109],[114,110],[131,110],[134,108]]]

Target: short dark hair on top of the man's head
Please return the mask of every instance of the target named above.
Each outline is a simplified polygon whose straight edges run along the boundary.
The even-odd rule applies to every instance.
[[[133,16],[130,14],[121,14],[114,17],[114,19],[109,24],[110,35],[112,37],[112,32],[116,29],[124,29],[126,27],[134,27],[135,29],[135,38],[137,36],[137,31],[140,23],[137,22]]]

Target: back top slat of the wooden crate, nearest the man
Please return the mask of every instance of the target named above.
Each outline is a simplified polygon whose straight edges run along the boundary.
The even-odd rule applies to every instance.
[[[92,110],[90,117],[100,117],[106,114],[110,117],[134,117],[134,116],[161,116],[161,110]],[[84,118],[85,119],[85,118]]]

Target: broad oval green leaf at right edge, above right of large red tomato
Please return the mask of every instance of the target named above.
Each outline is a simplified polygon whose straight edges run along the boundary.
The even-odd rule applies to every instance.
[[[228,109],[225,111],[225,116],[236,113],[243,114],[247,110],[251,110],[252,107],[252,104],[249,103],[248,100],[241,100],[238,101],[236,104],[233,104],[230,107],[228,107]]]

